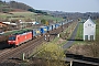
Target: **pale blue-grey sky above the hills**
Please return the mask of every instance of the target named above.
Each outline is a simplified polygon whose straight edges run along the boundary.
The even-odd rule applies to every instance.
[[[10,1],[10,0],[6,0]],[[99,0],[14,0],[38,10],[65,12],[99,12]]]

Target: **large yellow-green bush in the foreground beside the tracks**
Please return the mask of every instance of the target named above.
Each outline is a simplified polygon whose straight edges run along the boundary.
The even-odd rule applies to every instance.
[[[53,43],[43,44],[38,47],[40,52],[36,54],[36,57],[46,59],[47,66],[64,66],[65,54],[61,46]]]

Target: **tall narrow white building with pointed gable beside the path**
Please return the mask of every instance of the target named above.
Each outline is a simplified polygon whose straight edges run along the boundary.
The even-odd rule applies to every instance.
[[[96,40],[96,24],[89,18],[84,23],[84,41],[94,41]]]

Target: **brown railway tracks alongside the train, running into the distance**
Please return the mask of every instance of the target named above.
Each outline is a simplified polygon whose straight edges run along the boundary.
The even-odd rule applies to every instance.
[[[69,24],[65,24],[64,29],[66,29]],[[50,34],[51,33],[52,34],[58,34],[64,29],[58,28],[56,30],[51,31]],[[56,35],[51,35],[50,40],[54,38],[55,36]],[[33,50],[35,47],[37,47],[40,44],[42,44],[44,41],[45,40],[44,40],[44,35],[43,35],[43,36],[40,36],[40,37],[37,37],[35,40],[26,42],[26,43],[22,44],[21,46],[16,47],[16,48],[10,48],[10,50],[4,51],[2,54],[0,54],[0,64],[8,63],[9,59],[14,59],[14,58],[19,59],[21,57],[22,53],[24,53],[25,56],[28,57],[31,53],[34,52]]]

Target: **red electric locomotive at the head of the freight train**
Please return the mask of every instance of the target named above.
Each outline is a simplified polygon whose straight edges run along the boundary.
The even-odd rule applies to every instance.
[[[13,34],[9,36],[9,45],[18,46],[24,42],[32,40],[32,32],[24,32],[21,34]]]

